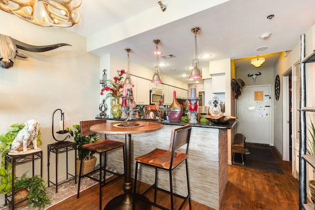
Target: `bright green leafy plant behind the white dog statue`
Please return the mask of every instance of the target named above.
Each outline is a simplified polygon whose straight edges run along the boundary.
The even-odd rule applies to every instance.
[[[9,153],[10,147],[12,145],[13,140],[15,139],[16,135],[25,127],[24,124],[12,124],[10,128],[7,130],[5,134],[0,135],[0,152],[2,152],[2,161],[1,161],[1,168],[0,168],[0,194],[8,194],[11,192],[12,189],[12,173],[8,171],[11,170],[12,165],[7,164],[7,168],[4,167],[5,158],[4,155]],[[37,145],[41,145],[41,141],[39,139],[40,131],[38,130],[37,136]]]

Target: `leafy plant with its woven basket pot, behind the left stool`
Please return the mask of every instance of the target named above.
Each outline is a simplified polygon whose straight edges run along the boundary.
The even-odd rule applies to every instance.
[[[79,174],[79,170],[80,170],[80,160],[81,158],[83,158],[82,175],[85,175],[93,171],[95,168],[95,163],[96,163],[96,157],[94,156],[95,152],[89,151],[89,150],[82,151],[80,125],[75,124],[75,125],[72,125],[72,127],[75,128],[76,130],[73,131],[72,129],[69,129],[68,127],[66,128],[66,130],[69,131],[69,134],[74,138],[74,142],[77,145],[77,150],[78,150],[78,157],[76,159],[77,174]],[[99,141],[98,134],[83,136],[84,145],[98,142],[98,141]]]

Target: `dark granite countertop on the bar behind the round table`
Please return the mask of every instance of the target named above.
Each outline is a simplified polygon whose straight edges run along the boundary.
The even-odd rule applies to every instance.
[[[119,120],[119,121],[123,121],[125,119],[117,119],[117,118],[109,118],[107,120]],[[161,119],[131,119],[130,121],[151,121],[151,122],[158,122],[164,125],[185,125],[188,124],[188,122],[166,122],[166,120],[161,120]],[[204,128],[218,128],[218,129],[231,129],[235,124],[236,124],[237,120],[235,120],[232,123],[228,123],[228,124],[214,124],[212,122],[208,122],[208,123],[190,123],[191,126],[193,127],[204,127]]]

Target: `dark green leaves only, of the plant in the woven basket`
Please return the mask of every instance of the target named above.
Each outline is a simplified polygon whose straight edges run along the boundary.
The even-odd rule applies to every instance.
[[[69,131],[69,134],[71,136],[74,137],[74,142],[77,145],[77,150],[78,150],[78,156],[79,158],[85,158],[86,156],[90,156],[92,157],[93,154],[95,154],[95,152],[93,151],[89,151],[89,150],[84,150],[82,152],[82,141],[81,141],[81,128],[80,125],[72,125],[73,128],[75,128],[76,130],[72,130],[70,128],[66,128],[67,131]],[[88,136],[83,136],[83,144],[90,144],[90,143],[94,143],[94,142],[98,142],[99,141],[99,135],[98,134],[92,134],[92,135],[88,135]]]

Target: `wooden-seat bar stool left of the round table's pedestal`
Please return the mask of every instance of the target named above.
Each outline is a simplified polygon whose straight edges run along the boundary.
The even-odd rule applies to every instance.
[[[123,142],[118,142],[118,141],[113,141],[105,139],[91,143],[91,144],[85,144],[83,145],[83,136],[87,135],[93,135],[95,134],[94,132],[90,131],[90,127],[95,124],[100,124],[100,123],[105,123],[106,119],[101,119],[101,120],[87,120],[87,121],[80,121],[80,128],[81,128],[81,141],[82,141],[82,150],[90,150],[99,153],[99,169],[95,169],[94,171],[87,173],[85,175],[82,175],[82,163],[83,163],[83,158],[81,158],[80,162],[80,172],[79,172],[79,183],[78,183],[78,194],[77,198],[79,198],[80,195],[80,183],[81,179],[83,177],[88,177],[92,180],[95,180],[99,183],[99,210],[102,209],[102,187],[111,183],[112,181],[115,181],[125,175],[125,143]],[[112,171],[109,171],[106,169],[106,152],[118,148],[123,148],[123,158],[124,158],[124,174],[117,174]],[[102,166],[102,154],[104,153],[104,166]],[[99,171],[99,178],[96,179],[92,177],[92,174]],[[104,180],[102,180],[102,172],[104,172]],[[116,177],[108,182],[105,181],[106,178],[106,172],[109,172],[111,174],[114,174]]]

